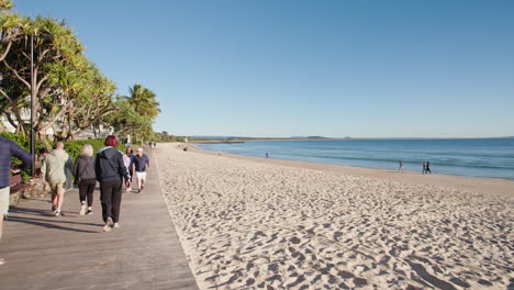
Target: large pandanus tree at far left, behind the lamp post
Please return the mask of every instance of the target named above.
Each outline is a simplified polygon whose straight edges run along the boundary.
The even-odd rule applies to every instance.
[[[71,29],[54,19],[37,16],[31,20],[9,14],[2,15],[0,27],[2,55],[4,55],[0,66],[2,75],[0,94],[10,104],[7,112],[8,120],[19,131],[24,131],[26,121],[22,118],[22,109],[29,108],[27,97],[31,96],[31,88],[34,86],[34,111],[37,118],[32,125],[37,133],[44,134],[66,113],[71,98],[70,94],[64,93],[70,83],[52,81],[58,78],[55,74],[59,71],[55,70],[55,67],[64,64],[75,66],[75,58],[81,54],[83,47],[71,33]],[[31,35],[35,36],[33,83],[31,83]]]

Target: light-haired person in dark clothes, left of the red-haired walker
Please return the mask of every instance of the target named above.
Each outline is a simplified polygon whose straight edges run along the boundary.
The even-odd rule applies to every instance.
[[[80,215],[92,214],[92,201],[97,175],[94,174],[93,147],[83,145],[82,153],[75,160],[75,183],[79,187]],[[86,203],[87,202],[87,203]],[[87,211],[86,211],[87,204]]]

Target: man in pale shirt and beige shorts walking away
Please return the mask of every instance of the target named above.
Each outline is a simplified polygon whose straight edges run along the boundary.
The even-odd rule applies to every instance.
[[[64,150],[64,143],[57,142],[41,166],[41,178],[48,181],[52,190],[52,211],[55,216],[63,215],[66,170],[74,170],[71,157]]]

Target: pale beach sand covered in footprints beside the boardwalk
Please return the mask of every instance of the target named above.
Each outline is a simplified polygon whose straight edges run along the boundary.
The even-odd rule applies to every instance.
[[[514,182],[155,150],[201,289],[509,289]]]

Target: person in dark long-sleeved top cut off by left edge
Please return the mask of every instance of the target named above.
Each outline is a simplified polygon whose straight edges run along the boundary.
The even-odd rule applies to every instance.
[[[13,156],[22,160],[22,165],[16,170],[11,169],[11,158]],[[22,149],[14,141],[4,140],[0,134],[0,241],[3,232],[3,216],[9,213],[10,172],[15,174],[25,170],[32,165],[32,156],[27,152]],[[0,265],[3,264],[5,264],[5,259],[0,258]]]

